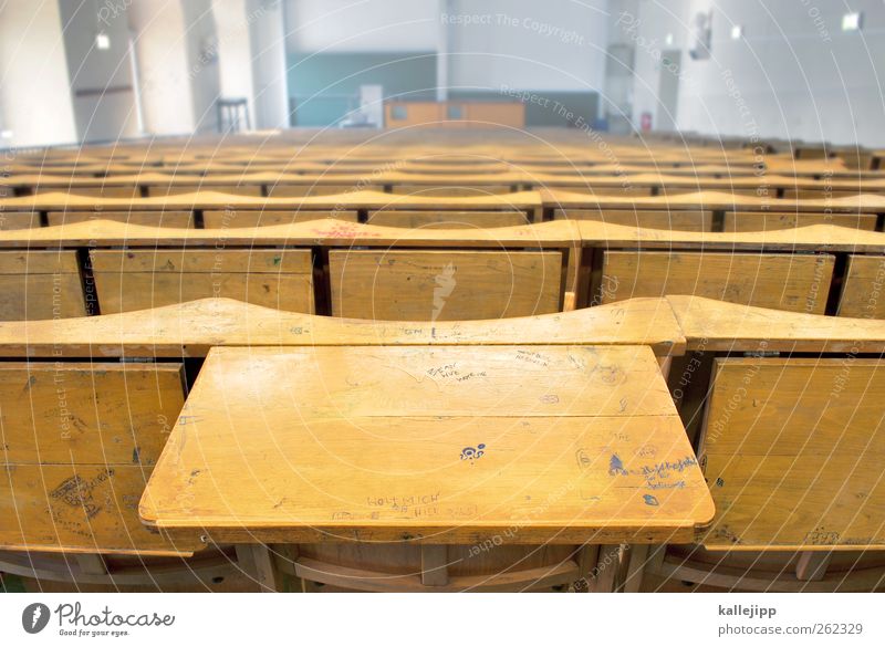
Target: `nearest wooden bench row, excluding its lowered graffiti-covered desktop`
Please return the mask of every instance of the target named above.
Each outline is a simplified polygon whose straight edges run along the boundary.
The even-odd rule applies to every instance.
[[[171,427],[189,419],[181,407],[199,371],[192,358],[212,347],[249,346],[258,361],[258,347],[270,357],[283,347],[405,346],[415,347],[415,362],[430,347],[438,361],[451,356],[458,363],[458,347],[514,344],[534,346],[530,355],[541,362],[553,362],[556,348],[589,344],[650,347],[691,434],[716,508],[712,522],[687,535],[652,525],[645,539],[618,540],[610,531],[543,546],[477,538],[472,547],[485,546],[479,555],[470,545],[440,549],[407,538],[298,546],[246,540],[235,549],[150,532],[138,518]],[[289,585],[362,589],[524,589],[576,582],[595,591],[652,591],[691,582],[728,589],[872,591],[885,576],[885,490],[876,467],[885,438],[883,352],[881,322],[689,296],[633,299],[506,323],[372,323],[225,299],[0,323],[0,511],[12,520],[0,528],[0,570],[116,585],[184,581],[195,588],[242,567],[269,588],[287,586],[289,574]],[[374,388],[383,397],[384,382]],[[706,397],[694,401],[697,393]],[[654,447],[643,447],[652,452],[644,456],[654,457]],[[690,465],[662,468],[666,473],[657,471],[655,479],[678,483],[679,470]],[[667,490],[656,493],[663,501]],[[516,535],[532,532],[529,524]],[[435,578],[439,571],[445,582]]]

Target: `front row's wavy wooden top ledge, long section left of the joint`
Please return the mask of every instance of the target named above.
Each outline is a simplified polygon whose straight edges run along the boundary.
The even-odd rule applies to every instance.
[[[476,322],[373,322],[311,316],[231,299],[70,320],[0,322],[0,353],[15,357],[202,357],[212,346],[648,345],[681,353],[667,302],[633,299],[568,313]]]

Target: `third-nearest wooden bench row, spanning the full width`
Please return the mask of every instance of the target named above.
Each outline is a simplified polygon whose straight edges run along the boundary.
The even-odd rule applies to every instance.
[[[375,190],[312,197],[231,196],[199,191],[155,198],[103,198],[63,192],[0,199],[0,229],[54,227],[106,219],[174,228],[236,229],[315,218],[385,227],[508,227],[543,220],[593,220],[683,231],[763,231],[805,225],[882,230],[885,198],[771,199],[718,191],[606,196],[564,189],[450,197]]]

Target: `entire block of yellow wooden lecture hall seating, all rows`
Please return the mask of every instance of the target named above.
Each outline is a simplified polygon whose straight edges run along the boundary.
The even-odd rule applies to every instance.
[[[0,589],[883,589],[883,285],[878,152],[22,153]]]

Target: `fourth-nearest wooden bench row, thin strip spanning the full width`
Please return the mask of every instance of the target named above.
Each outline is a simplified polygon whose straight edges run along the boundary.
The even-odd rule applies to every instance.
[[[680,195],[702,190],[759,196],[771,199],[837,198],[885,191],[885,178],[814,178],[787,175],[733,176],[726,169],[718,176],[662,173],[616,173],[600,170],[510,169],[504,171],[404,171],[379,170],[360,174],[345,169],[298,174],[284,173],[212,174],[194,177],[187,173],[142,173],[110,177],[63,177],[15,175],[0,180],[7,195],[24,196],[71,192],[80,196],[138,198],[178,196],[199,190],[252,197],[301,197],[343,194],[360,189],[389,194],[481,196],[534,189],[569,189],[612,196]]]

